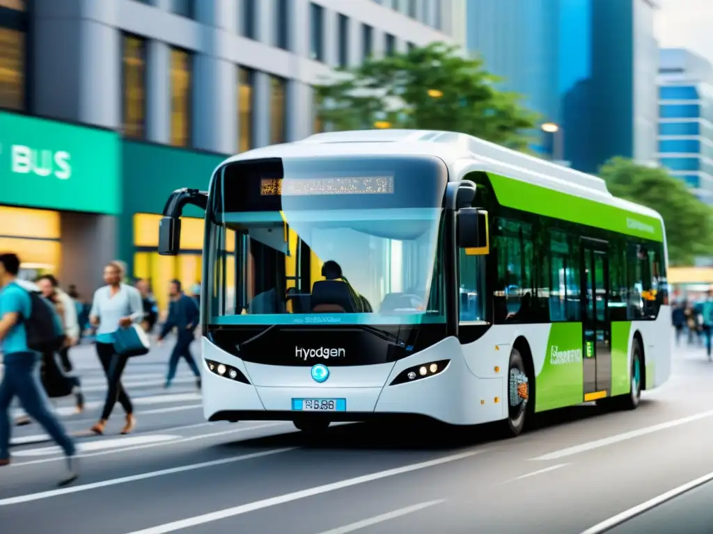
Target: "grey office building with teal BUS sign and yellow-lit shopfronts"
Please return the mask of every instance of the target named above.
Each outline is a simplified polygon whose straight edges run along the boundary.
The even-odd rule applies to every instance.
[[[84,294],[116,257],[158,295],[190,286],[202,219],[158,256],[168,194],[319,130],[312,85],[332,68],[462,41],[463,2],[0,0],[0,248]]]

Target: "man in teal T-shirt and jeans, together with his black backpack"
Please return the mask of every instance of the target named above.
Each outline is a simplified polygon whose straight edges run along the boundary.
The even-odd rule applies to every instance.
[[[76,447],[48,407],[48,399],[37,378],[40,354],[61,347],[64,336],[59,318],[39,292],[17,283],[20,260],[14,253],[0,254],[0,350],[5,372],[0,382],[0,466],[10,463],[9,410],[14,397],[39,422],[67,457],[68,473],[60,481],[66,486],[76,480]]]

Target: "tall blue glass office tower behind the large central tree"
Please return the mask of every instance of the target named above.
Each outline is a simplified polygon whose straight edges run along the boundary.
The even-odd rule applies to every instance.
[[[533,150],[596,172],[655,163],[653,0],[467,0],[466,46],[542,123]]]

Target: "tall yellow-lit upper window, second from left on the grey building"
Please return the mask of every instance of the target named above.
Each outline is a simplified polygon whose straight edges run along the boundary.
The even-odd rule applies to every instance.
[[[146,127],[146,41],[123,38],[123,133],[143,139]]]

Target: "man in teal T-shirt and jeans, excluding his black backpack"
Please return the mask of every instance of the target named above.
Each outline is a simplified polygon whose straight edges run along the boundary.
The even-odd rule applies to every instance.
[[[5,365],[0,382],[0,466],[10,463],[8,412],[12,400],[18,397],[27,414],[43,426],[66,454],[68,474],[60,481],[60,486],[66,486],[78,476],[76,447],[49,409],[37,373],[41,356],[27,345],[23,323],[31,316],[32,300],[16,281],[19,270],[20,259],[16,254],[0,254],[0,350]]]

